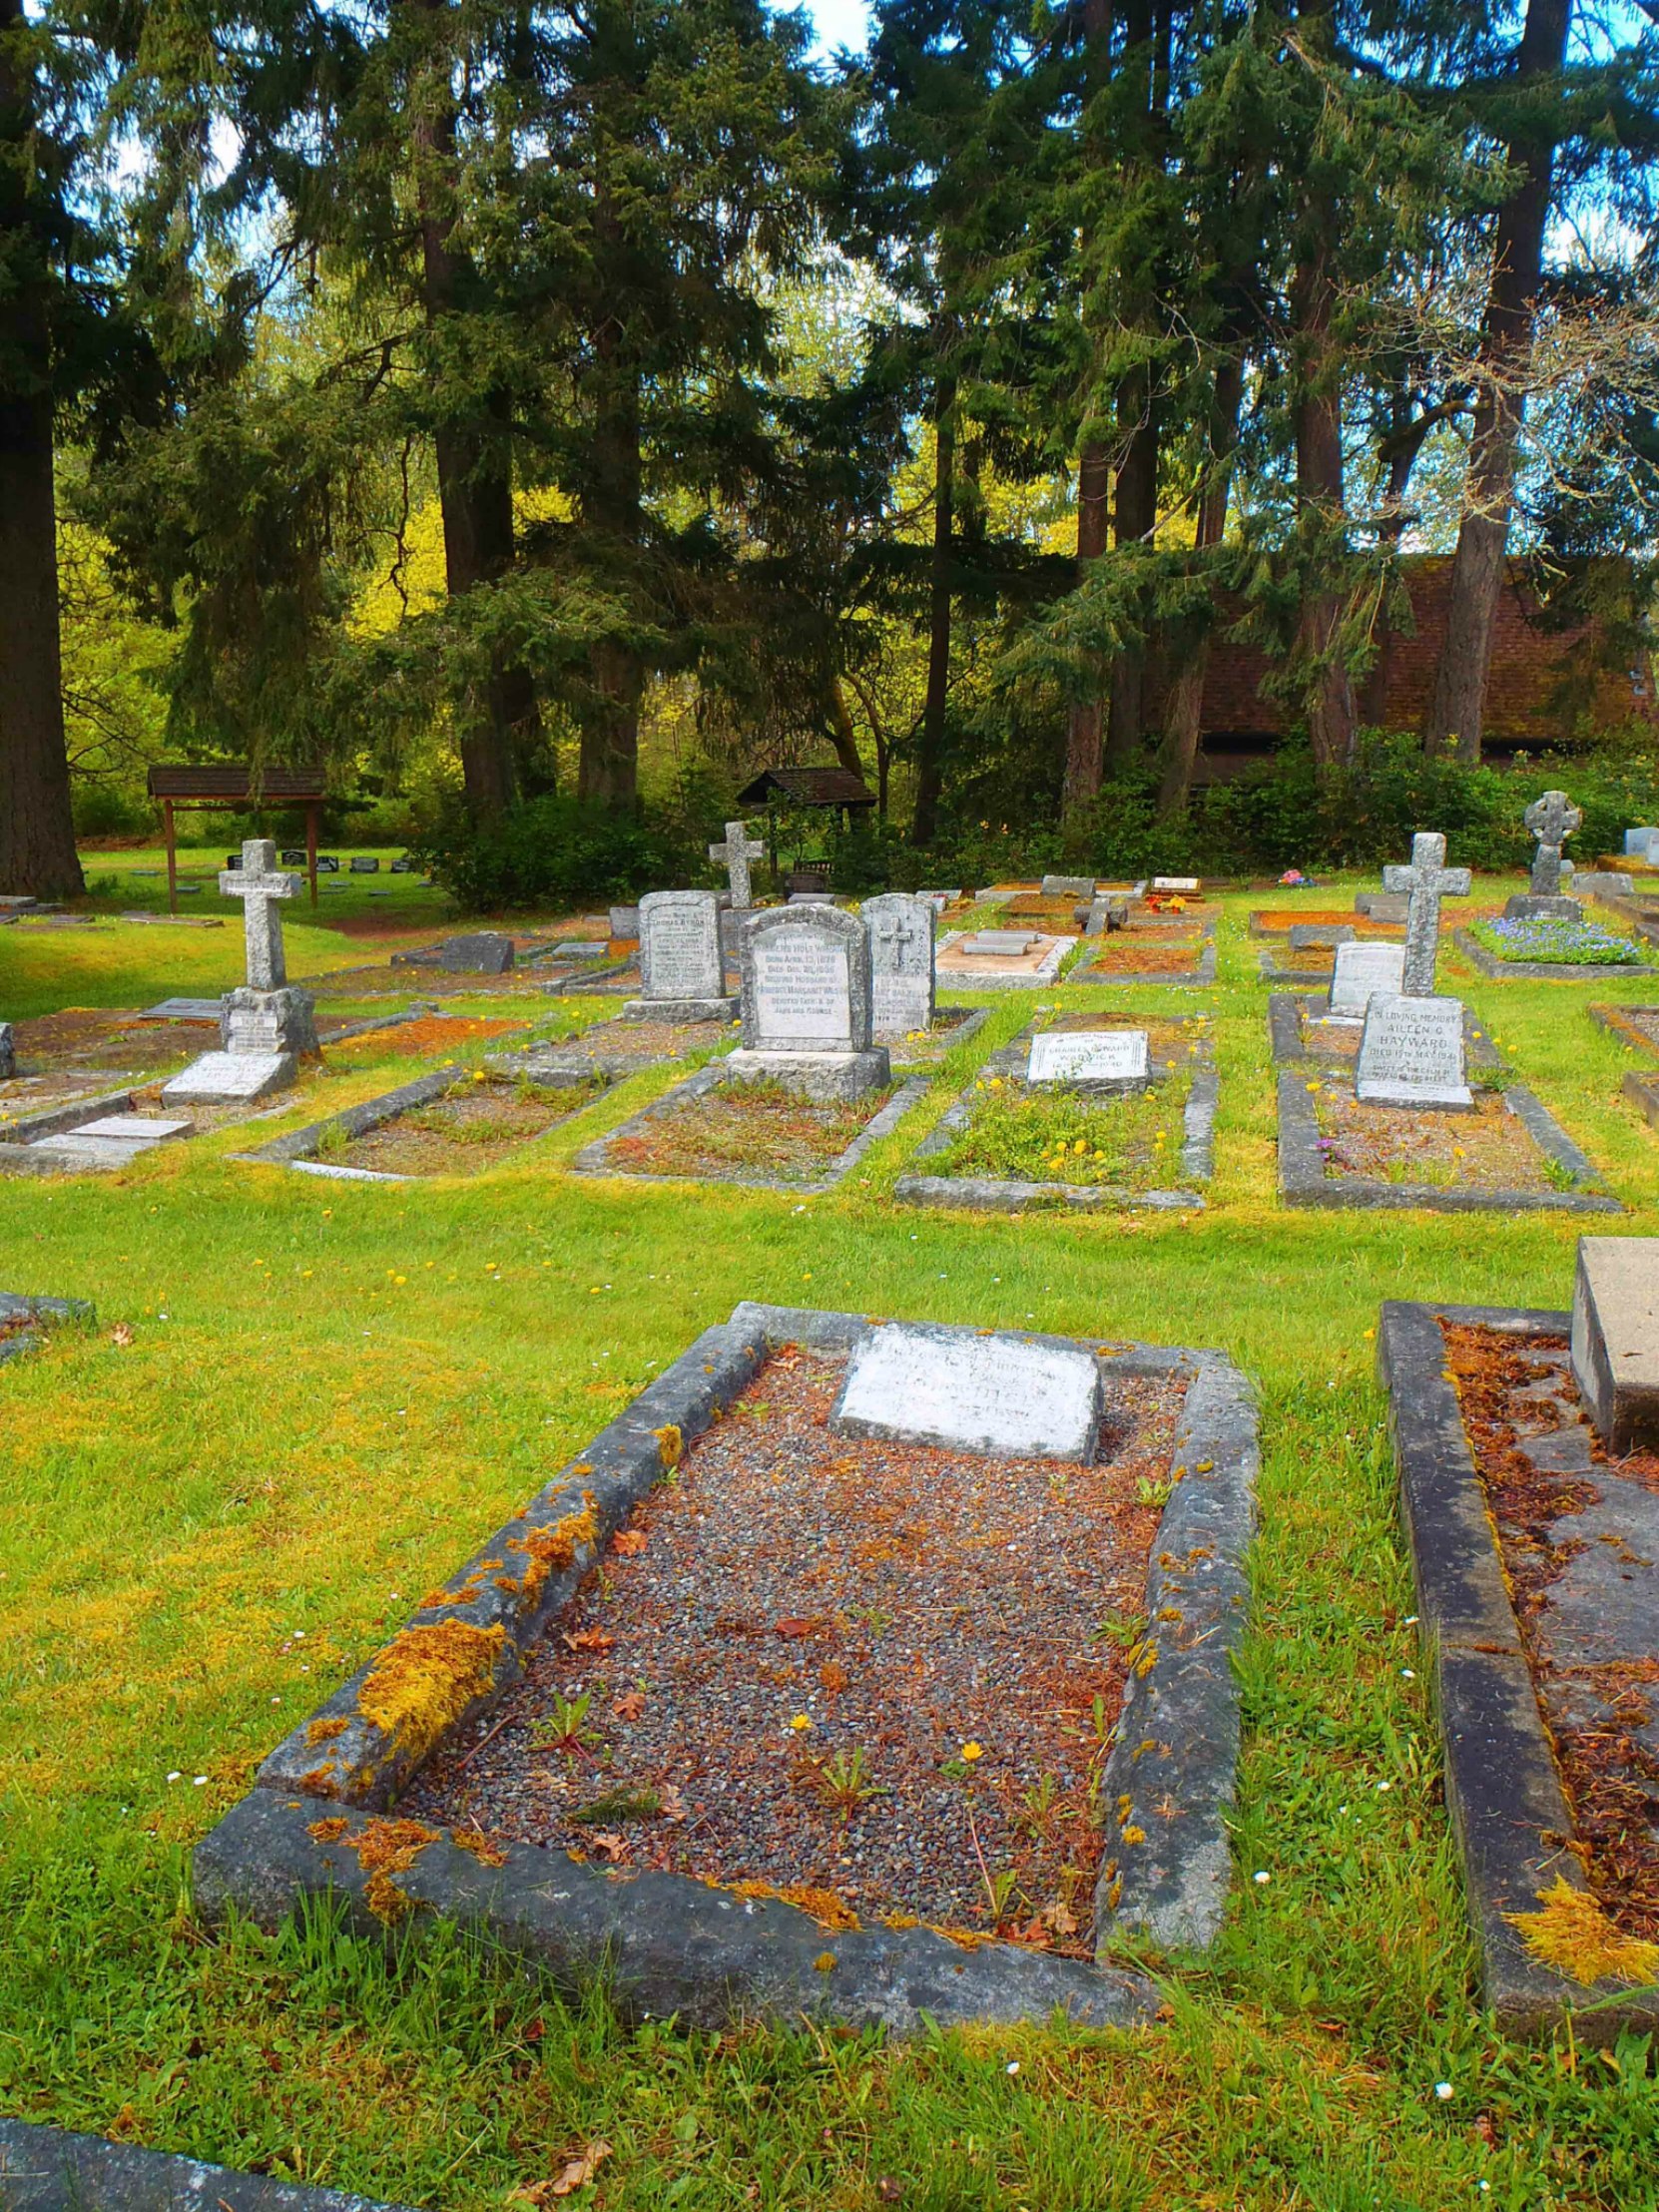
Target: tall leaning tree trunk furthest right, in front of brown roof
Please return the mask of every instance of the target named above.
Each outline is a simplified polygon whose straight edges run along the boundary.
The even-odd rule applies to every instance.
[[[1546,75],[1566,60],[1573,0],[1528,0],[1515,80]],[[1486,717],[1486,675],[1498,595],[1504,588],[1509,515],[1515,498],[1515,449],[1526,416],[1522,374],[1533,343],[1533,301],[1544,268],[1544,226],[1551,208],[1555,139],[1544,128],[1517,135],[1511,164],[1522,184],[1498,210],[1493,272],[1480,361],[1489,372],[1475,400],[1469,436],[1469,489],[1451,564],[1447,637],[1433,679],[1425,726],[1431,752],[1455,750],[1460,761],[1480,759]]]

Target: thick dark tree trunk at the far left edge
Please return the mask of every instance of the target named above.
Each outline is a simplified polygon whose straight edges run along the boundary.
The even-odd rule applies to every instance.
[[[0,891],[73,898],[86,885],[69,807],[49,268],[29,208],[35,119],[20,27],[22,0],[0,0],[0,265],[11,270],[7,352],[18,363],[0,385]]]

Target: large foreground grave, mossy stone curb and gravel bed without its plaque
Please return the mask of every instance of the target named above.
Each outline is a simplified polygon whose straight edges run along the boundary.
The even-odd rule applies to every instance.
[[[1250,1387],[1210,1352],[927,1325],[936,1347],[1035,1343],[1071,1352],[1079,1378],[1093,1367],[1095,1460],[836,1433],[869,1334],[854,1314],[757,1305],[703,1332],[272,1750],[197,1847],[197,1909],[270,1927],[332,1889],[385,1933],[396,1891],[418,1907],[409,1929],[442,1916],[564,1984],[604,1973],[628,2017],[699,2026],[1150,2017],[1155,1986],[1108,1942],[1203,1949],[1232,1880]],[[845,1542],[889,1522],[902,1542]],[[1157,1621],[1135,1666],[1099,1637],[1102,1610]],[[896,1674],[887,1637],[918,1668]],[[438,1670],[431,1725],[387,1703],[411,1666]],[[1119,1721],[1097,1790],[1048,1688],[1057,1666]],[[606,1747],[597,1783],[549,1732],[564,1714],[568,1736],[577,1701]],[[1048,1938],[1002,1940],[964,1798],[940,1792],[953,1741],[984,1851],[1075,1900]],[[1018,1820],[1044,1772],[1062,1790],[1048,1836]],[[458,1790],[484,1851],[447,1834]],[[372,1891],[369,1823],[394,1805],[409,1849]]]

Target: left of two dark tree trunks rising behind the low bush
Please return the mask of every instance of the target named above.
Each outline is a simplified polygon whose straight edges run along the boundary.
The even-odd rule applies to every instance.
[[[429,20],[449,13],[447,0],[411,0]],[[440,35],[434,82],[447,82],[449,55]],[[427,323],[465,312],[473,270],[453,243],[456,232],[456,113],[445,97],[418,100],[411,124],[416,210],[420,219],[422,305]],[[471,416],[471,418],[469,418]],[[438,507],[445,531],[445,586],[451,597],[491,584],[513,566],[511,429],[500,400],[460,409],[440,420],[434,445]],[[540,739],[540,710],[531,672],[495,653],[484,686],[469,686],[458,708],[456,739],[467,805],[478,821],[500,818],[518,796],[518,752]]]

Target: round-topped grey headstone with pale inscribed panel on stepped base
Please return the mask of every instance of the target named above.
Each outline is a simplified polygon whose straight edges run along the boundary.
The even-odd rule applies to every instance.
[[[869,931],[841,907],[768,907],[739,938],[743,1044],[728,1082],[781,1082],[812,1099],[885,1088],[872,1044]]]

